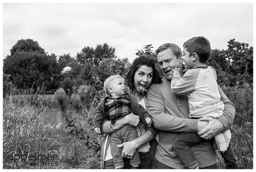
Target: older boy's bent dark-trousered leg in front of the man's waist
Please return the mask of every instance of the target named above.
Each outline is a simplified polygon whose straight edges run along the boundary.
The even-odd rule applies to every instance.
[[[172,146],[185,168],[199,168],[198,161],[190,148],[202,141],[203,138],[199,137],[197,133],[181,133],[175,138]]]

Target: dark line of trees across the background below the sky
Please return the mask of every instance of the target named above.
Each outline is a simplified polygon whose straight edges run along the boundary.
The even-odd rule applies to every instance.
[[[157,58],[153,45],[145,45],[134,55],[149,55]],[[70,54],[48,54],[33,39],[21,39],[12,46],[10,55],[3,60],[4,92],[12,83],[17,89],[55,92],[59,87],[72,94],[81,85],[89,85],[92,78],[104,81],[113,74],[125,77],[131,63],[127,58],[117,58],[115,47],[107,43],[98,44],[95,48],[85,46],[72,57]],[[253,87],[253,47],[249,44],[228,41],[227,50],[212,50],[207,65],[217,71],[220,86]],[[63,71],[70,67],[71,70]]]

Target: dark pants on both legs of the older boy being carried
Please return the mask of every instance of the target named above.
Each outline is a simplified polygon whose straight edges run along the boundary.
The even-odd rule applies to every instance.
[[[204,141],[204,139],[199,137],[197,133],[181,133],[175,138],[172,146],[185,168],[195,169],[196,166],[198,166],[198,161],[190,148],[202,141]],[[235,154],[230,144],[227,150],[221,153],[221,156],[225,163],[229,165],[236,163]]]

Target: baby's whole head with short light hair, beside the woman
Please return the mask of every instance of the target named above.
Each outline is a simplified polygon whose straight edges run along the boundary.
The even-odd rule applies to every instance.
[[[108,77],[104,82],[104,90],[111,97],[123,96],[127,91],[125,79],[119,75]]]

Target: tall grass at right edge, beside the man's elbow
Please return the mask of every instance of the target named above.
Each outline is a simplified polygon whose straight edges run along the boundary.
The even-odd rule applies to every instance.
[[[234,124],[231,126],[231,146],[241,169],[253,168],[253,90],[249,85],[242,88],[223,87],[223,92],[236,107]],[[225,168],[218,153],[219,168]]]

